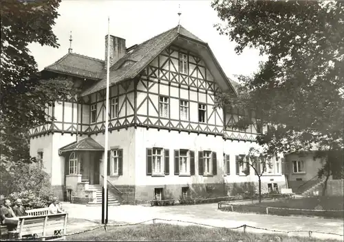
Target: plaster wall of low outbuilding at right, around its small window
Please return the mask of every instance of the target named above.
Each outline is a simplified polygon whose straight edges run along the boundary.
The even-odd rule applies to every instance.
[[[303,160],[305,162],[305,173],[293,173],[292,160]],[[288,163],[288,180],[297,180],[297,178],[302,178],[302,180],[310,180],[316,176],[319,169],[323,167],[321,158],[316,158],[314,160],[314,152],[305,154],[304,156],[298,154],[289,154],[286,156],[286,162]]]

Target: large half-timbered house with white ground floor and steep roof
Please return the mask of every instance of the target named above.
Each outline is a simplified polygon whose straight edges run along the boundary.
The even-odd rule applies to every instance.
[[[257,176],[239,165],[263,132],[229,124],[247,112],[215,108],[215,96],[236,90],[211,48],[178,25],[140,45],[110,36],[109,114],[105,113],[106,62],[72,53],[45,67],[82,90],[47,106],[50,125],[30,130],[30,153],[43,158],[56,194],[96,203],[107,165],[109,199],[119,202],[219,197],[253,192]],[[107,36],[105,36],[107,49]],[[107,53],[105,53],[107,60]],[[105,115],[109,154],[104,160]],[[272,160],[263,189],[281,189],[282,156]]]

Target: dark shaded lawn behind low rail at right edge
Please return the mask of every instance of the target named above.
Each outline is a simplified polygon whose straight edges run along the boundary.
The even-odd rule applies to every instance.
[[[319,200],[318,200],[319,199]],[[271,206],[277,208],[299,208],[314,209],[320,205],[323,210],[343,210],[343,197],[303,197],[299,199],[276,200],[262,202],[262,206]]]

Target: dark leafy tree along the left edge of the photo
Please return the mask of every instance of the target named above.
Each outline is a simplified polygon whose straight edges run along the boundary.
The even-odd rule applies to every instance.
[[[41,80],[28,45],[58,47],[52,26],[61,0],[1,1],[1,163],[32,161],[28,128],[49,123],[45,105],[70,95],[68,80]]]

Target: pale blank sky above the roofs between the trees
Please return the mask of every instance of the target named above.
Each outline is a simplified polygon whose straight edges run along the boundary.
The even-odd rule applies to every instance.
[[[74,53],[104,60],[108,16],[110,34],[125,38],[127,47],[131,47],[177,26],[179,9],[180,24],[208,43],[228,77],[236,80],[235,75],[250,75],[264,60],[256,49],[235,53],[235,43],[213,27],[221,21],[208,0],[64,0],[53,27],[60,47],[33,43],[29,48],[41,71],[67,53],[71,31]]]

